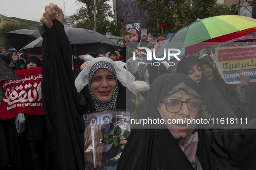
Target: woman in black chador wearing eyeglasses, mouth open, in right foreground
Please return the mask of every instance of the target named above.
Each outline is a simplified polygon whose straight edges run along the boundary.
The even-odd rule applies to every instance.
[[[203,123],[187,121],[202,117],[198,85],[192,79],[180,73],[159,76],[138,119],[164,121],[135,125],[117,169],[255,169],[255,129],[221,129],[207,134]]]

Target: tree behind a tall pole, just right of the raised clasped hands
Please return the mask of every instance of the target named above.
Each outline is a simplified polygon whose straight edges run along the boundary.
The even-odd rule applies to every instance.
[[[101,31],[101,34],[104,33],[102,25],[109,25],[110,22],[107,22],[108,17],[113,17],[112,12],[110,11],[111,6],[107,4],[108,0],[97,0],[96,1],[96,28],[98,31]],[[77,0],[81,4],[81,8],[71,16],[71,18],[76,22],[76,28],[85,28],[85,29],[94,29],[94,0]],[[102,32],[103,31],[103,32]]]

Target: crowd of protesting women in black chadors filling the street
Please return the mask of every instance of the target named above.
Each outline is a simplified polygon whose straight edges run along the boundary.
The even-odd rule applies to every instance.
[[[198,118],[254,120],[256,118],[255,83],[250,82],[249,76],[241,75],[240,83],[227,84],[218,72],[216,54],[213,50],[207,49],[180,56],[180,61],[172,59],[163,61],[158,66],[150,64],[141,66],[138,63],[146,61],[145,51],[141,50],[140,55],[136,54],[134,60],[133,53],[127,47],[129,43],[136,43],[136,47],[147,47],[155,53],[168,41],[164,39],[154,41],[151,34],[147,38],[141,38],[137,28],[128,30],[130,34],[124,35],[126,42],[120,43],[118,51],[99,53],[89,60],[84,60],[83,56],[72,56],[70,49],[66,48],[65,45],[69,41],[62,26],[63,20],[62,9],[57,5],[51,3],[45,7],[39,28],[45,40],[42,55],[33,56],[18,51],[19,49],[11,51],[1,48],[0,60],[4,60],[13,70],[29,69],[32,73],[35,68],[42,67],[42,109],[45,113],[45,115],[25,113],[26,123],[23,133],[17,132],[14,117],[0,120],[1,169],[100,170],[111,167],[121,170],[136,169],[136,167],[139,169],[179,167],[179,169],[228,170],[256,167],[253,163],[256,158],[254,157],[256,139],[253,137],[256,136],[254,134],[256,128],[251,129],[252,134],[248,135],[250,129],[243,130],[243,126],[229,131],[223,128],[230,125],[218,126],[213,123],[207,128],[208,137],[206,128],[199,130],[197,126],[185,128],[178,125],[179,127],[173,127],[174,129],[166,126],[169,131],[165,131],[166,127],[162,126],[156,130],[149,130],[151,128],[148,127],[147,130],[136,129],[133,132],[129,123],[124,121],[124,115],[118,116],[120,123],[116,125],[113,125],[109,116],[104,116],[104,124],[99,125],[97,116],[92,115],[89,117],[90,126],[85,128],[83,118],[85,113],[120,109],[136,111],[136,105],[129,100],[137,98],[138,93],[132,85],[136,80],[152,85],[149,93],[145,92],[140,96],[143,101],[146,100],[139,111],[137,110],[140,118],[147,117],[146,113],[148,113],[148,117],[159,117],[164,120],[167,120],[170,114],[178,115],[182,119],[189,118],[193,114]],[[49,29],[51,27],[55,29]],[[55,44],[51,38],[56,40]],[[73,61],[70,60],[71,58]],[[175,65],[169,66],[164,64],[165,62],[174,62]],[[3,92],[1,94],[2,100],[5,94]],[[23,95],[19,98],[25,97]],[[198,102],[196,109],[192,108],[194,103],[189,103],[193,99],[197,99],[195,103]],[[169,110],[172,102],[180,104],[180,108]],[[185,112],[188,116],[185,116]],[[18,113],[13,115],[15,114]],[[171,118],[177,117],[171,116]],[[102,147],[100,142],[102,135],[113,134],[115,126],[120,126],[121,135],[125,130],[132,131],[121,157],[120,154],[110,156],[111,154],[106,154],[107,152],[102,153],[106,149],[112,154],[115,152],[112,145],[106,144]],[[248,142],[241,142],[243,135],[248,135],[245,137]],[[126,144],[123,136],[120,140],[121,144]],[[233,144],[232,149],[228,146],[230,143],[222,145],[225,142],[222,140],[230,143],[234,140],[237,143]],[[238,149],[243,147],[251,151]],[[164,148],[168,149],[164,150]],[[235,156],[224,156],[231,153]],[[106,156],[102,158],[104,154]],[[165,158],[162,159],[161,156]],[[113,157],[117,160],[111,160]],[[120,163],[117,166],[119,157]],[[168,161],[169,157],[172,159],[176,157],[177,160]],[[247,164],[248,162],[250,164]]]

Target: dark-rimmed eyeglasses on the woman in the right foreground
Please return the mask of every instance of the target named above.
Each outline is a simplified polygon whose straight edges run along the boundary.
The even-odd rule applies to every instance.
[[[202,100],[199,98],[192,98],[187,101],[180,101],[177,99],[162,100],[161,103],[165,103],[166,110],[171,113],[177,113],[181,111],[183,103],[186,103],[188,110],[198,111],[202,108]]]

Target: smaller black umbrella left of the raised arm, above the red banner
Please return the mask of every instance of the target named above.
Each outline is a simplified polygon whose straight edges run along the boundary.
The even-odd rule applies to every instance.
[[[19,29],[6,32],[5,41],[17,50],[20,50],[40,36],[37,30]]]

